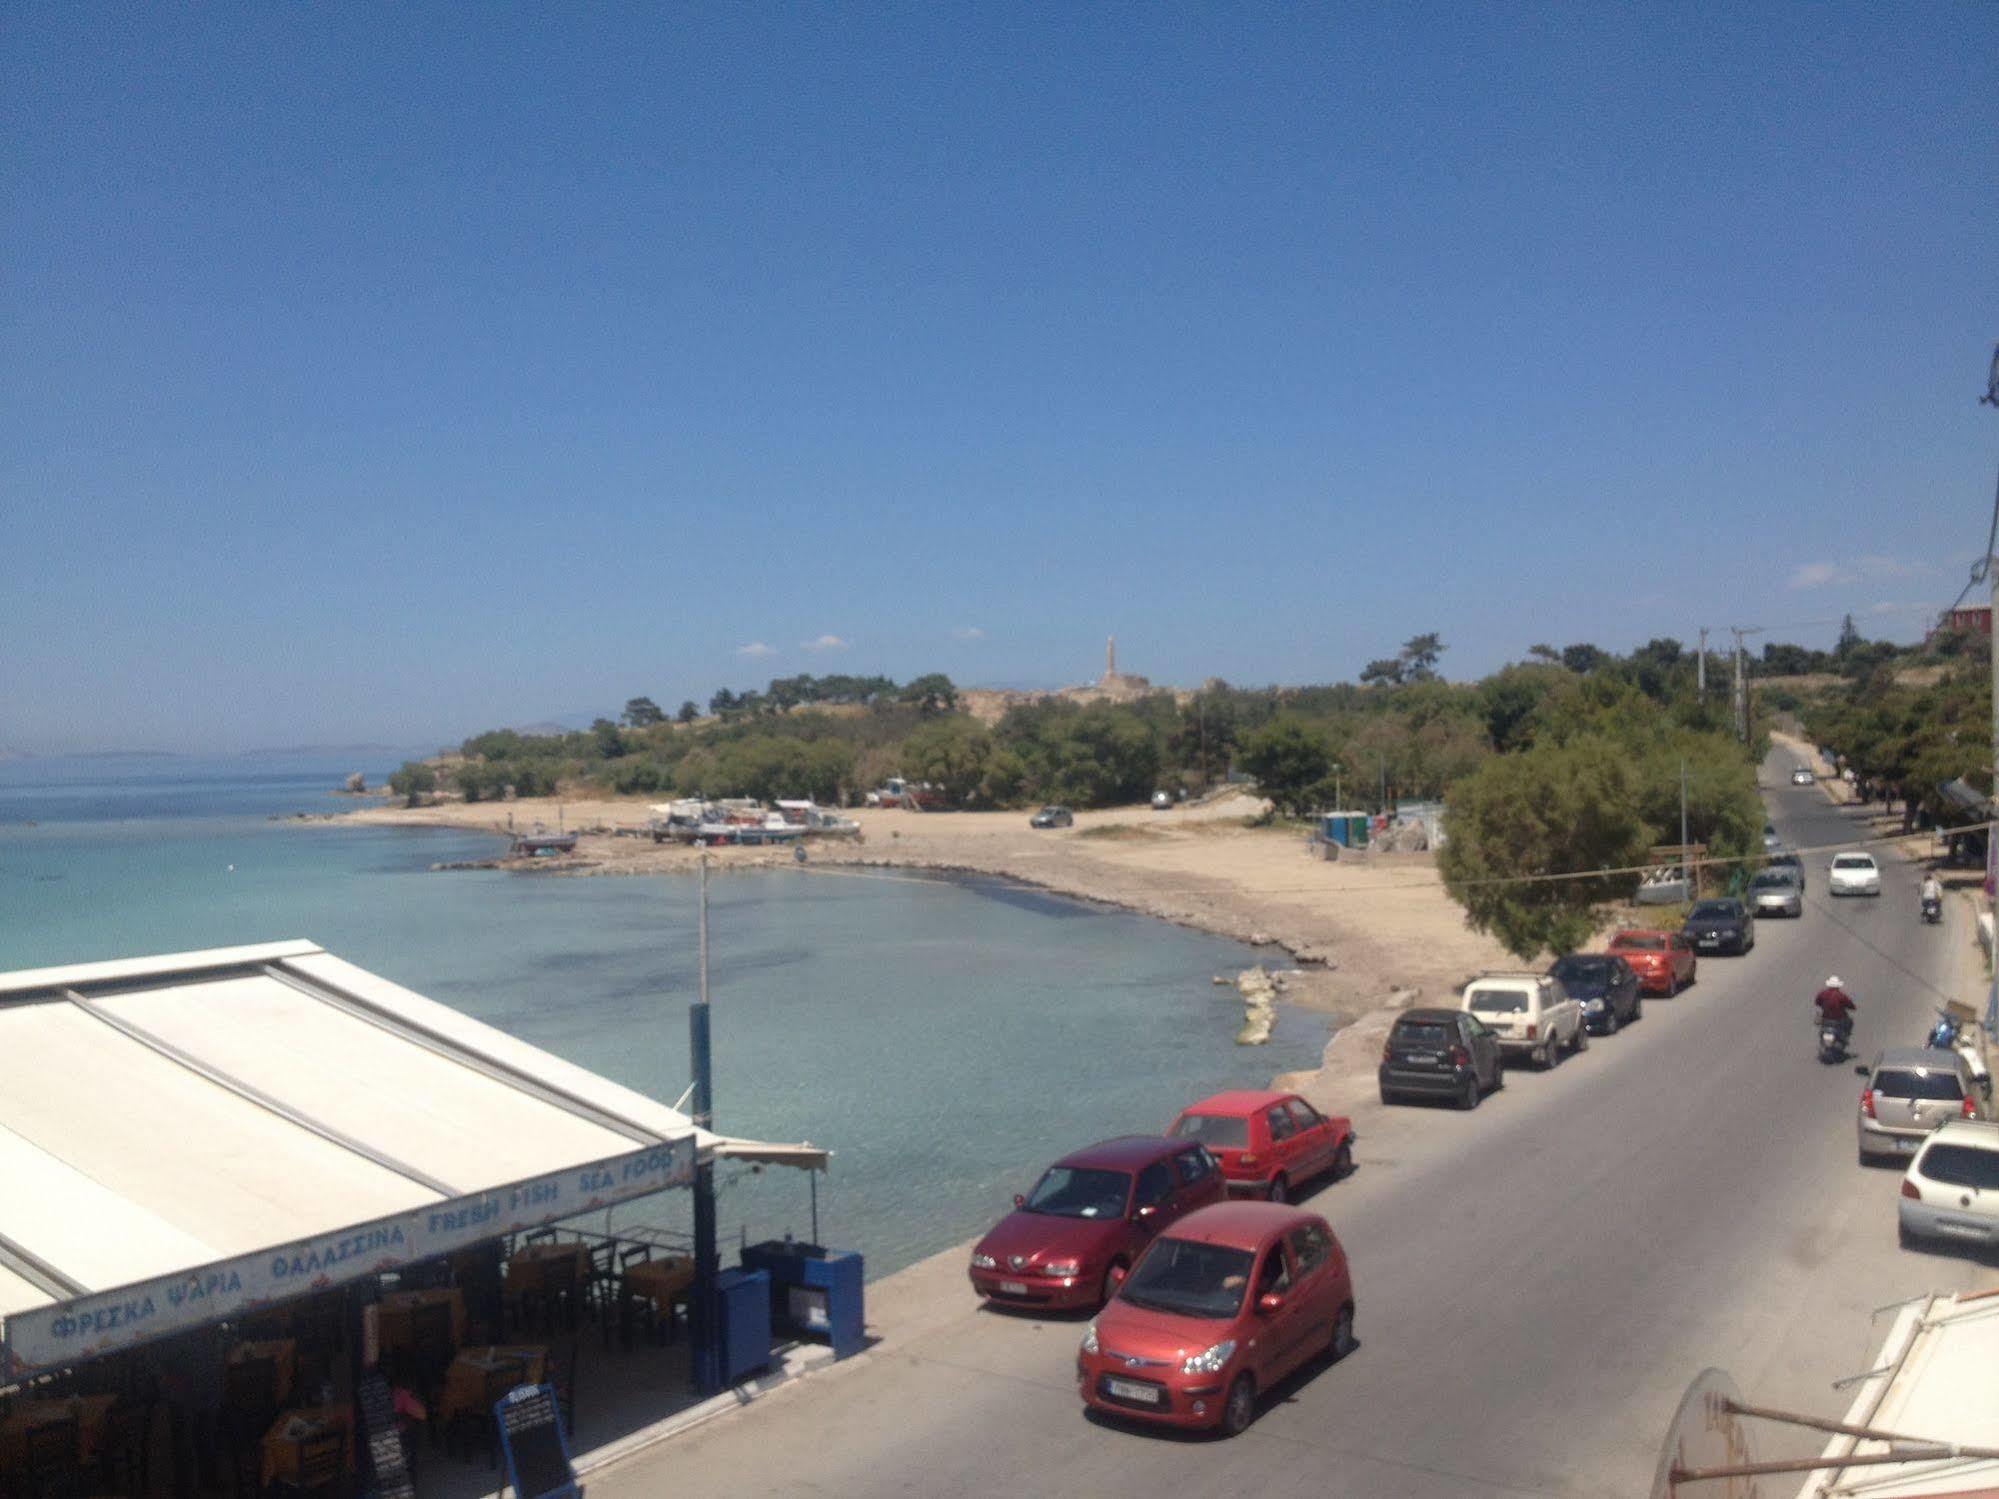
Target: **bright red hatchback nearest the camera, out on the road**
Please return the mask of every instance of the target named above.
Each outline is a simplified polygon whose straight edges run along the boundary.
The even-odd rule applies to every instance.
[[[1353,1273],[1331,1225],[1279,1203],[1221,1203],[1161,1233],[1083,1333],[1085,1405],[1233,1437],[1257,1397],[1353,1349]]]

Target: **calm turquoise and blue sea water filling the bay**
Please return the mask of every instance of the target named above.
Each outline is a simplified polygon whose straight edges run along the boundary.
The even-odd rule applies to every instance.
[[[326,787],[356,767],[388,765],[0,765],[0,969],[310,937],[680,1097],[694,879],[432,873],[496,839],[266,821],[344,805]],[[1159,1129],[1323,1039],[1287,1017],[1233,1045],[1235,995],[1209,975],[1253,961],[1239,943],[1001,881],[720,871],[710,933],[716,1123],[834,1147],[822,1237],[872,1275],[976,1233],[1063,1149]],[[800,1173],[724,1171],[732,1239],[804,1237],[806,1203]],[[670,1193],[644,1215],[684,1211]]]

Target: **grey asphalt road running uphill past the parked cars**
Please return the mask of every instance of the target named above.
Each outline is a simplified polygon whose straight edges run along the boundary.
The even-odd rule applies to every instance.
[[[1797,847],[1857,837],[1817,787],[1765,765]],[[964,1309],[768,1403],[598,1473],[594,1499],[696,1483],[828,1495],[1643,1495],[1679,1393],[1719,1365],[1747,1395],[1837,1415],[1871,1313],[1991,1283],[1895,1241],[1899,1175],[1855,1163],[1851,1065],[1815,1059],[1811,993],[1837,971],[1855,1049],[1921,1039],[1969,925],[1915,919],[1915,871],[1879,901],[1825,893],[1749,957],[1701,959],[1677,999],[1553,1073],[1509,1071],[1475,1113],[1369,1109],[1359,1169],[1323,1187],[1353,1259],[1361,1347],[1275,1391],[1235,1441],[1085,1419],[1079,1325]],[[1953,919],[1961,913],[1953,913]],[[996,1205],[998,1209],[998,1205]],[[964,1281],[958,1281],[964,1287]],[[1763,1455],[1785,1443],[1765,1443]],[[1787,1451],[1815,1451],[1789,1443]]]

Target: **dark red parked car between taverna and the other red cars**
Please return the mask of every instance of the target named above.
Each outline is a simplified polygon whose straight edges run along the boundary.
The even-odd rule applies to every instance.
[[[1007,1307],[1097,1307],[1167,1223],[1223,1197],[1193,1139],[1123,1135],[1063,1155],[972,1251],[972,1289]]]

